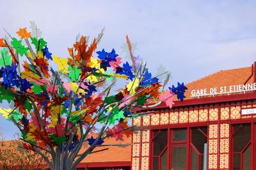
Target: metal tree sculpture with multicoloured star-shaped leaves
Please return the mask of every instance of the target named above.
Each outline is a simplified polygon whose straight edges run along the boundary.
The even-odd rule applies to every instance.
[[[94,54],[103,31],[90,45],[81,36],[68,48],[68,58],[52,55],[44,38],[31,36],[26,28],[19,29],[19,38],[9,35],[10,43],[0,38],[0,102],[14,103],[0,113],[19,128],[23,147],[40,153],[51,169],[75,169],[106,137],[122,140],[123,135],[131,135],[128,121],[140,116],[132,108],[163,102],[172,107],[175,95],[184,97],[186,87],[164,90],[167,81],[161,85],[146,63],[134,58],[128,36],[132,65],[121,64],[114,49]],[[116,79],[126,85],[110,95]],[[110,85],[102,88],[107,81]],[[152,99],[154,104],[147,104]],[[93,138],[95,125],[100,130]],[[80,154],[85,141],[90,147]]]

